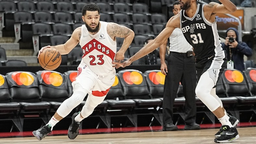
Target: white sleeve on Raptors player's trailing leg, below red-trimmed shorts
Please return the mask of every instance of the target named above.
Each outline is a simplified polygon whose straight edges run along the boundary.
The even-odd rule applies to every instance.
[[[106,96],[97,97],[97,96],[93,96],[93,95],[89,94],[88,98],[83,106],[83,109],[81,110],[81,115],[83,116],[83,118],[86,118],[89,115],[91,115],[93,113],[94,109],[96,108],[96,106],[104,101],[105,97]]]

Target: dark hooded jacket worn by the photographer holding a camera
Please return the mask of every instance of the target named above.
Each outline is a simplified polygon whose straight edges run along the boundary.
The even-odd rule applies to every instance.
[[[235,28],[228,28],[228,30],[234,30],[237,34],[236,41],[238,42],[236,48],[232,48],[232,57],[230,57],[230,52],[229,52],[229,46],[225,45],[224,42],[221,43],[221,47],[223,50],[227,52],[227,59],[234,61],[234,68],[240,71],[244,70],[244,55],[246,56],[251,56],[252,55],[252,49],[245,43],[245,42],[239,42],[238,41],[238,31]],[[226,32],[227,36],[227,32]]]

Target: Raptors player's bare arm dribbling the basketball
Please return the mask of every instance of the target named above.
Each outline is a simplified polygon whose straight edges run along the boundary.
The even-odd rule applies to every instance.
[[[42,47],[41,50],[38,52],[37,58],[39,58],[39,55],[43,52],[45,48],[50,48],[50,47],[57,49],[57,51],[60,54],[68,54],[78,44],[78,42],[80,41],[80,37],[81,37],[81,27],[76,28],[74,30],[70,39],[66,43],[56,45],[56,46],[47,45],[45,47]]]

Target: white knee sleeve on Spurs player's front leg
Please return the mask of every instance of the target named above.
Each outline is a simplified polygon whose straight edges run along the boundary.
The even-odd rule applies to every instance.
[[[198,81],[196,87],[196,95],[209,108],[211,112],[220,107],[218,100],[210,93],[213,87],[214,82],[210,78],[208,71],[204,72]]]

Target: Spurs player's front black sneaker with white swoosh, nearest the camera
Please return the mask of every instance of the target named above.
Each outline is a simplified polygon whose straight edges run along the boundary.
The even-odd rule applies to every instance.
[[[220,137],[215,138],[214,142],[216,143],[228,143],[232,142],[239,138],[237,128],[229,127],[227,125],[222,126],[223,132]]]

